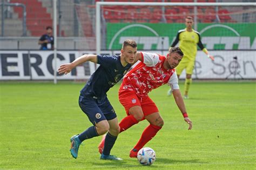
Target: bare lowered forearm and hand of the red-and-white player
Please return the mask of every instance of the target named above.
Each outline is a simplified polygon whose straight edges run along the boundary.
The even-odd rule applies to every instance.
[[[172,93],[173,93],[173,97],[176,101],[176,104],[179,107],[179,110],[181,111],[181,113],[183,113],[184,120],[186,121],[187,124],[190,125],[188,127],[188,130],[191,130],[192,129],[192,121],[187,116],[185,103],[184,103],[184,100],[182,98],[182,95],[181,95],[179,89],[174,89]]]

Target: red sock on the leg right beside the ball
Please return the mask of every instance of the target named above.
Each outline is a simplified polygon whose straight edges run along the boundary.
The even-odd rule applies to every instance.
[[[162,127],[160,127],[160,126],[151,125],[151,124],[149,126],[147,126],[145,128],[145,130],[143,131],[142,136],[140,137],[139,141],[133,148],[137,149],[137,151],[139,151],[139,149],[143,148],[143,146],[146,145],[146,143],[148,141],[150,141],[161,128]]]

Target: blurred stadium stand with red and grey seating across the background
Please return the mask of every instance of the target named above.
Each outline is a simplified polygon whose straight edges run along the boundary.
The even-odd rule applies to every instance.
[[[17,49],[38,49],[37,39],[45,32],[46,26],[52,25],[52,0],[4,0],[8,3],[23,3],[26,5],[26,36],[23,36],[22,19],[23,13],[21,7],[9,6],[8,16],[4,19],[4,36],[2,39],[2,49],[10,47]],[[95,44],[95,3],[100,0],[62,0],[58,1],[58,24],[61,29],[59,37],[77,37],[63,39],[62,49],[73,48],[79,49],[84,46]],[[106,0],[108,2],[163,2],[162,0]],[[226,2],[227,0],[223,0]],[[165,0],[164,2],[193,2],[193,0]],[[198,0],[197,2],[216,2],[215,0]],[[38,12],[40,11],[40,12]],[[184,23],[184,16],[194,15],[194,6],[103,6],[102,22],[106,23]],[[254,22],[255,12],[253,9],[246,9],[242,6],[224,7],[219,6],[198,6],[197,21],[198,23],[242,23]],[[207,15],[206,15],[207,14]],[[0,15],[2,13],[0,12]],[[1,28],[0,28],[1,29]],[[58,29],[58,30],[59,30]],[[8,38],[4,38],[8,37]],[[11,38],[13,37],[13,38]],[[16,38],[15,38],[16,37]],[[19,38],[18,38],[19,37]],[[80,43],[81,39],[84,43]],[[24,39],[25,38],[25,39]],[[34,39],[33,39],[34,38]],[[75,40],[77,39],[77,40]],[[13,42],[16,42],[15,45]],[[25,43],[29,45],[23,45]],[[1,44],[1,45],[2,45]],[[60,43],[62,44],[62,43]],[[83,45],[82,45],[83,44]],[[87,45],[90,44],[90,45]],[[95,49],[95,47],[88,47]]]

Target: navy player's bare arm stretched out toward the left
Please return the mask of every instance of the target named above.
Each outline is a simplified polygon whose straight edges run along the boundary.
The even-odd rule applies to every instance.
[[[83,55],[75,59],[72,63],[62,64],[59,66],[58,73],[59,74],[68,74],[73,68],[78,66],[79,64],[85,63],[87,61],[97,63],[97,56],[96,55]]]

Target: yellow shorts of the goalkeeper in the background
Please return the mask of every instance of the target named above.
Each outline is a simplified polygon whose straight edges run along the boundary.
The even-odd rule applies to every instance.
[[[184,57],[179,65],[175,68],[177,75],[180,75],[184,69],[186,69],[186,74],[192,74],[194,70],[194,60]]]

